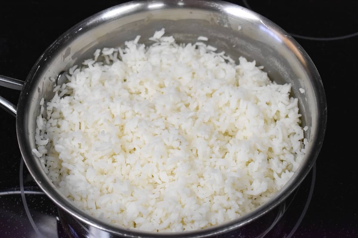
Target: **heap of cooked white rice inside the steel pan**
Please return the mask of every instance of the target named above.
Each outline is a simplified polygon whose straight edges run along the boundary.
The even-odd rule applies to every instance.
[[[299,167],[297,98],[206,37],[184,45],[163,35],[72,67],[40,102],[33,152],[64,196],[104,221],[210,227],[268,201]]]

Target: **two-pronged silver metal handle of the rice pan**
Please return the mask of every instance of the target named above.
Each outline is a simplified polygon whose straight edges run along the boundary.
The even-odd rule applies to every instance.
[[[0,75],[0,86],[21,91],[24,86],[24,83],[25,83],[24,81]],[[16,117],[17,107],[13,103],[9,102],[8,100],[6,100],[1,96],[0,96],[0,107],[4,108],[5,111],[9,112],[11,115]]]

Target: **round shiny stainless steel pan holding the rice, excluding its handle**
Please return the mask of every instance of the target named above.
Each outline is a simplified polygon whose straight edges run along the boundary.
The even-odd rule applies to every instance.
[[[179,42],[195,42],[200,35],[208,44],[232,57],[244,56],[265,67],[277,83],[291,83],[292,96],[299,99],[302,125],[308,126],[309,146],[298,171],[266,204],[233,221],[198,231],[150,233],[107,224],[73,206],[50,182],[31,150],[35,148],[35,120],[42,97],[53,97],[53,82],[74,64],[92,57],[101,47],[123,46],[141,35],[140,43],[162,27]],[[239,30],[241,28],[241,30]],[[299,92],[304,88],[305,93]],[[107,232],[106,237],[205,237],[252,226],[282,206],[282,202],[303,181],[313,166],[323,143],[327,107],[320,76],[302,47],[287,32],[265,17],[241,6],[223,1],[154,0],[133,1],[95,14],[69,29],[48,47],[30,71],[20,94],[16,130],[21,154],[39,187],[60,209],[92,229]],[[281,204],[281,205],[280,205]],[[279,206],[280,205],[280,206]],[[269,219],[269,218],[267,218]],[[110,235],[109,235],[110,234]]]

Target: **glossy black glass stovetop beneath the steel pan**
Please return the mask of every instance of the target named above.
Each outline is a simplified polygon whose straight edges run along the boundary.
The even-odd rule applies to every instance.
[[[59,35],[86,17],[121,2],[1,1],[0,74],[24,80],[37,58]],[[266,16],[296,38],[321,75],[328,103],[327,131],[316,174],[310,173],[289,207],[290,212],[281,219],[281,227],[276,226],[268,237],[289,237],[295,229],[291,237],[358,237],[357,156],[352,150],[357,128],[353,97],[358,89],[358,2],[232,2]],[[0,95],[16,104],[19,91],[0,87]],[[20,151],[15,118],[3,110],[0,115],[0,237],[36,237],[27,212],[45,237],[66,237],[52,203],[41,194],[25,167],[23,183],[30,207],[26,211],[19,192]],[[311,200],[309,191],[313,191]],[[221,237],[236,236],[229,233]]]

